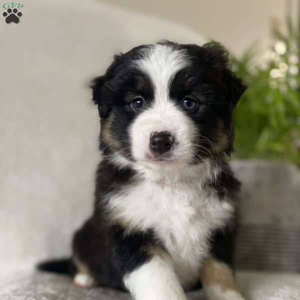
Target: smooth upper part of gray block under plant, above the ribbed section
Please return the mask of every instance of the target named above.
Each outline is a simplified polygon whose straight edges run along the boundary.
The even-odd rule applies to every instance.
[[[300,170],[276,161],[245,160],[231,163],[242,181],[243,223],[300,226]]]

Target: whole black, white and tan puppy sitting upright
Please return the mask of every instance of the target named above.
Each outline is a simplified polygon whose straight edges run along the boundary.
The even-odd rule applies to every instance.
[[[93,214],[72,242],[74,282],[136,300],[183,300],[199,285],[209,300],[242,300],[232,270],[239,182],[225,158],[245,85],[223,47],[137,46],[91,87],[103,159]]]

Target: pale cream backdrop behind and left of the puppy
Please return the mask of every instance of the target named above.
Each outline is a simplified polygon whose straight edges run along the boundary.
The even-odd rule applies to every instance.
[[[99,1],[22,2],[20,23],[0,19],[1,272],[69,254],[71,232],[91,210],[100,156],[89,79],[134,45],[203,42]]]

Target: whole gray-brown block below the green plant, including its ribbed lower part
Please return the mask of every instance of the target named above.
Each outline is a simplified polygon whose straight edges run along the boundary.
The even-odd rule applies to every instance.
[[[300,270],[300,170],[271,161],[232,161],[242,181],[238,269]]]

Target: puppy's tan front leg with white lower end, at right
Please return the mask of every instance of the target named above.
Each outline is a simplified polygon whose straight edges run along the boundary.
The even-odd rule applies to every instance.
[[[231,267],[214,257],[204,260],[200,279],[208,300],[244,300],[235,285]]]

